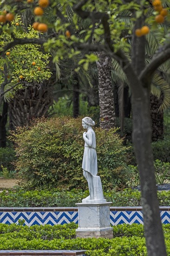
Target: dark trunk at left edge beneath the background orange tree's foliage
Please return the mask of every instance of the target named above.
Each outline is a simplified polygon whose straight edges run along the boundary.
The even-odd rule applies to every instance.
[[[0,148],[5,148],[7,145],[7,115],[8,103],[3,101],[2,115],[0,115]]]

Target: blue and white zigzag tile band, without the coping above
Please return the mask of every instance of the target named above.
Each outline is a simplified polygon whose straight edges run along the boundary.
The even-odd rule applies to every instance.
[[[170,223],[170,211],[160,210],[160,216],[162,223]],[[75,222],[78,223],[78,211],[15,211],[15,212],[0,212],[0,223],[12,224],[19,223],[19,220],[25,220],[24,225],[32,226],[38,225],[56,225]],[[128,210],[117,210],[110,211],[111,225],[118,225],[122,223],[142,223],[143,214],[141,210],[128,211]]]

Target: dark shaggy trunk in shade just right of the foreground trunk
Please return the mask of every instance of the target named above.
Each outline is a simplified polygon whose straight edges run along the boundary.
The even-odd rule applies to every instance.
[[[163,113],[158,112],[162,101],[163,95],[158,99],[153,94],[150,94],[152,141],[163,140]]]

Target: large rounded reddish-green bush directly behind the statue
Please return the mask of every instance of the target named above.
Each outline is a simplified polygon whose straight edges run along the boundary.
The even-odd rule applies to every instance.
[[[125,185],[128,148],[116,134],[95,129],[97,138],[98,175],[104,188]],[[57,117],[34,121],[29,129],[18,128],[10,137],[15,143],[16,169],[26,187],[60,187],[87,189],[82,172],[84,140],[81,118]]]

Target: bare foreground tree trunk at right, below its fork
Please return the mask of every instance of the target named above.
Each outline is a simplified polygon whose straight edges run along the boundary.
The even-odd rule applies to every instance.
[[[141,98],[132,101],[132,110],[135,113],[133,115],[132,140],[140,173],[144,233],[148,256],[166,256],[151,148],[152,129],[147,89],[145,89],[143,99]]]

